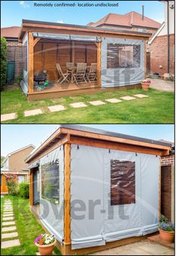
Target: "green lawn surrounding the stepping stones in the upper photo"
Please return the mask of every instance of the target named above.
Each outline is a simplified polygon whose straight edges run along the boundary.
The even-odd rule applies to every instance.
[[[93,106],[89,101],[119,99],[143,93],[148,98]],[[70,103],[85,102],[87,108],[70,108]],[[64,105],[67,110],[49,112],[49,105]],[[23,111],[41,108],[44,114],[24,117]],[[43,99],[28,102],[19,88],[1,92],[1,114],[16,112],[18,119],[3,123],[174,123],[174,93],[151,89],[121,90]]]

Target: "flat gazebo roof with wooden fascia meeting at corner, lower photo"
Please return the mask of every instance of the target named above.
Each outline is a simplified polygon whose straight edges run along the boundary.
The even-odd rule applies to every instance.
[[[25,163],[29,163],[34,157],[40,155],[41,152],[48,149],[55,142],[58,142],[58,139],[63,139],[67,134],[82,136],[87,138],[109,140],[109,142],[120,142],[124,144],[131,145],[140,145],[151,148],[160,148],[160,150],[171,150],[172,144],[168,142],[160,142],[153,139],[145,139],[136,136],[129,136],[121,133],[108,132],[105,130],[94,129],[86,126],[80,126],[75,124],[61,124],[51,136],[49,136],[46,141],[43,142],[38,148],[35,148],[31,154],[28,155],[25,159]],[[79,134],[79,135],[78,135]]]

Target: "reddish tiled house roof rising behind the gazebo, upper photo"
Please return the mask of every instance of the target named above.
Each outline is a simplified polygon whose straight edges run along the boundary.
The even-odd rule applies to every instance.
[[[136,11],[130,11],[130,13],[127,14],[107,14],[105,17],[95,23],[88,23],[87,26],[103,25],[128,27],[140,26],[153,29],[158,29],[161,26],[161,24],[156,20],[152,20],[146,16],[144,16],[144,20],[142,20],[142,14],[139,14]]]

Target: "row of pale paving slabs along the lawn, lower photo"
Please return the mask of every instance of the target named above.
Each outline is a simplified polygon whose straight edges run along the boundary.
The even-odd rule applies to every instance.
[[[1,228],[1,248],[11,248],[19,246],[18,232],[16,231],[16,224],[13,216],[13,206],[10,200],[5,200],[2,216]],[[9,213],[10,210],[10,213]],[[12,216],[9,216],[12,215]],[[7,226],[7,227],[6,227]],[[9,227],[10,226],[10,227]],[[13,232],[10,232],[13,231]],[[15,231],[15,232],[14,232]],[[5,239],[5,240],[4,240]]]

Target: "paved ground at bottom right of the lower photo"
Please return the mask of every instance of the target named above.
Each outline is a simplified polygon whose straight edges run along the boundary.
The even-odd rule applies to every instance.
[[[91,255],[175,255],[174,249],[150,242],[147,239],[122,245],[116,248],[98,251]]]

